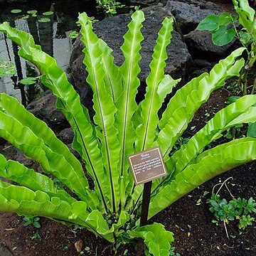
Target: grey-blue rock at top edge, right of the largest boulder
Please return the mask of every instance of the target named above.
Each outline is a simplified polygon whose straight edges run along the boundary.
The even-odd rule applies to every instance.
[[[180,28],[183,35],[195,30],[198,23],[200,23],[206,16],[210,14],[220,14],[218,6],[208,5],[208,8],[211,9],[202,9],[203,7],[206,8],[206,3],[202,5],[198,1],[187,2],[168,1],[164,7],[166,10],[171,11],[175,16],[177,26]]]

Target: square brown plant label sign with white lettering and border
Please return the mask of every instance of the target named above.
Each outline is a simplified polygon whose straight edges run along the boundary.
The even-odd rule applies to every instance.
[[[156,146],[128,156],[135,185],[167,175],[161,149]]]

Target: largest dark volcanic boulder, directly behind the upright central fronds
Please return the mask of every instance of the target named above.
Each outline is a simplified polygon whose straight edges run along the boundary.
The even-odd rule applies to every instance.
[[[142,42],[142,60],[139,65],[141,73],[139,80],[145,84],[146,76],[149,75],[149,63],[155,46],[157,32],[161,28],[161,22],[165,17],[171,17],[171,13],[159,6],[150,6],[143,9],[145,21],[143,23],[142,34],[144,41]],[[120,46],[124,42],[123,36],[127,32],[127,24],[130,21],[129,14],[121,14],[94,24],[94,31],[102,38],[110,48],[113,49],[114,60],[117,65],[122,65],[124,59]],[[82,53],[84,46],[80,42],[80,38],[75,42],[74,50],[70,58],[71,73],[74,80],[76,90],[81,94],[81,101],[85,105],[90,98],[87,94],[90,93],[85,85],[85,66],[82,64],[84,55]],[[172,33],[171,44],[167,48],[169,58],[166,60],[165,72],[171,74],[174,78],[180,78],[185,75],[186,68],[191,64],[191,55],[188,53],[186,44],[183,43],[180,34],[176,31]]]

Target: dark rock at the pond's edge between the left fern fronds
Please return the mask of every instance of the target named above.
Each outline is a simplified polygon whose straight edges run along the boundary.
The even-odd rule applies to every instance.
[[[67,127],[68,122],[64,114],[55,106],[55,102],[56,97],[48,90],[38,100],[31,102],[27,110],[46,122],[51,129],[58,132]]]

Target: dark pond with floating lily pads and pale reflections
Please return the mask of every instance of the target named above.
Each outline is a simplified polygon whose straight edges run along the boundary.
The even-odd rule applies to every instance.
[[[16,11],[18,9],[19,12]],[[68,73],[74,41],[68,35],[78,30],[75,22],[78,14],[83,11],[98,20],[104,16],[97,12],[96,1],[29,1],[21,4],[0,4],[0,23],[9,21],[11,26],[31,33],[36,43],[52,55],[60,68]],[[15,63],[16,74],[0,78],[0,92],[13,95],[25,106],[43,92],[40,83],[31,86],[19,82],[23,78],[38,76],[37,70],[19,58],[18,47],[0,32],[0,62],[1,60]]]

